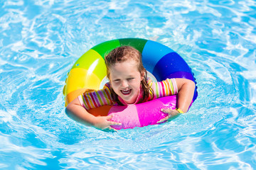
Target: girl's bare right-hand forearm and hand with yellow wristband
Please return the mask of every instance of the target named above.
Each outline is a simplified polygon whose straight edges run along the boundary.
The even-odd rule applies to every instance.
[[[186,113],[188,111],[189,106],[191,105],[193,94],[195,91],[195,83],[188,79],[175,79],[177,88],[178,88],[178,101],[177,101],[177,107],[181,109],[183,113]],[[169,118],[178,115],[178,111],[176,109],[161,109],[162,112],[168,113],[169,116],[167,116],[164,119],[159,120],[158,123],[164,122],[165,120],[168,120]]]

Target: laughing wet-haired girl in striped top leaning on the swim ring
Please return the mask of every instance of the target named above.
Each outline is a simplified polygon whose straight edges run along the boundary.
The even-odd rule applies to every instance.
[[[112,115],[98,116],[87,112],[91,108],[102,106],[94,102],[99,98],[103,105],[133,105],[151,101],[154,98],[178,94],[178,108],[175,110],[161,109],[169,116],[163,122],[178,113],[186,113],[191,104],[195,84],[188,79],[166,79],[152,82],[146,79],[146,69],[142,64],[141,53],[134,47],[117,47],[105,57],[107,78],[110,80],[99,91],[85,92],[75,98],[66,108],[67,115],[74,120],[100,130],[112,130],[110,125],[121,125],[109,121]]]

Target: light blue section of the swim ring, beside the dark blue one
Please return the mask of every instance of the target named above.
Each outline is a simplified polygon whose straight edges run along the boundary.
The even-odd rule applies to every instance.
[[[142,63],[146,70],[153,73],[156,63],[170,52],[174,52],[174,50],[171,50],[171,48],[166,47],[159,42],[148,40],[142,51]],[[156,77],[156,75],[154,76]]]

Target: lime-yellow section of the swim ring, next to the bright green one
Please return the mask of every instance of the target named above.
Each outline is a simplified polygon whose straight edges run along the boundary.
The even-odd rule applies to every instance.
[[[92,68],[92,66],[94,66]],[[106,76],[106,66],[104,59],[95,50],[88,50],[83,54],[73,65],[71,69],[86,69],[90,70],[93,74],[97,75],[99,79],[103,79]]]

